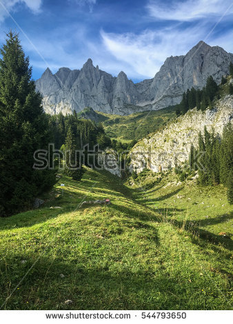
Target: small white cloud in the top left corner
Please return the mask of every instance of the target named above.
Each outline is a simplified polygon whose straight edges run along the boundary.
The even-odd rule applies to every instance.
[[[0,21],[4,21],[9,13],[19,4],[26,5],[33,13],[40,12],[42,0],[0,0]]]

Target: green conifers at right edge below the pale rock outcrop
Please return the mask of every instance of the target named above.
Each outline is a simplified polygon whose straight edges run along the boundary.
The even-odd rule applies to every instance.
[[[197,154],[199,161],[195,164]],[[233,203],[233,128],[230,123],[225,125],[221,139],[214,131],[207,132],[206,127],[204,134],[199,133],[198,150],[193,146],[190,150],[190,168],[198,168],[201,185],[225,185],[227,199]]]

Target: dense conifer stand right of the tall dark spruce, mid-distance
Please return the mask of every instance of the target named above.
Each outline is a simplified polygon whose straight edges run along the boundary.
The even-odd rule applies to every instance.
[[[74,180],[80,180],[83,175],[82,165],[92,163],[88,150],[93,150],[99,144],[99,149],[104,150],[112,145],[111,140],[105,135],[103,126],[94,121],[79,119],[77,113],[63,116],[57,114],[50,116],[50,128],[54,147],[65,153],[65,174]],[[85,145],[88,147],[85,148]],[[81,150],[83,154],[81,155]]]

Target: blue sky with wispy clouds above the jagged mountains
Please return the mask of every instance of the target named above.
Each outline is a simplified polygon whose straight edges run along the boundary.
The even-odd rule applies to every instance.
[[[0,0],[0,43],[19,32],[33,77],[45,68],[101,70],[150,79],[167,57],[200,40],[233,52],[232,0]]]

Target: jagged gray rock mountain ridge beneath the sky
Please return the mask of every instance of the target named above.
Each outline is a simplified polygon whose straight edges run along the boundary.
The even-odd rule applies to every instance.
[[[134,84],[124,72],[117,77],[94,68],[92,60],[81,70],[47,69],[36,81],[43,95],[43,108],[50,114],[77,112],[85,107],[110,114],[159,110],[181,101],[188,88],[203,88],[212,75],[217,83],[229,73],[233,54],[200,41],[186,55],[168,57],[153,79]]]

